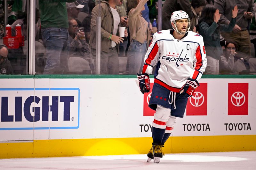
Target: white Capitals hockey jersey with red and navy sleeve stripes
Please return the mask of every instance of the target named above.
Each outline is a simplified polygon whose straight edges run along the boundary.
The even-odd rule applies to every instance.
[[[202,77],[207,59],[201,35],[188,31],[181,40],[177,40],[172,31],[163,30],[153,35],[142,73],[151,74],[156,65],[154,82],[179,92],[188,78],[198,81]]]

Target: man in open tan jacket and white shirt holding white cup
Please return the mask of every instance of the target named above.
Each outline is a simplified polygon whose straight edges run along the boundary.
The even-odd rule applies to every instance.
[[[119,37],[121,16],[116,6],[121,6],[122,0],[102,1],[92,10],[91,35],[89,45],[92,56],[96,62],[96,18],[101,17],[101,49],[100,49],[100,74],[119,74],[119,59],[117,51],[124,38]],[[100,15],[99,15],[100,14]],[[128,33],[125,30],[125,36]]]

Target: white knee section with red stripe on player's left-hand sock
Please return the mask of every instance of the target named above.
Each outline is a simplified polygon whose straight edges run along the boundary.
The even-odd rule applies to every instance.
[[[171,109],[157,105],[152,126],[155,128],[165,129],[170,113]]]

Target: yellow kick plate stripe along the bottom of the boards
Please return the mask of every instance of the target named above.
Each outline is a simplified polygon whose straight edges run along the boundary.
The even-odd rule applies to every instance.
[[[170,137],[164,153],[255,151],[256,135]],[[151,137],[54,139],[0,143],[0,159],[146,154]]]

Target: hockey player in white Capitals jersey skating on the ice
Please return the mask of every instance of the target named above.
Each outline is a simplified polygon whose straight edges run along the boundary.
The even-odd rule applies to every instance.
[[[149,74],[156,65],[148,105],[156,110],[152,123],[153,143],[148,152],[148,161],[154,159],[155,163],[163,157],[162,147],[172,132],[176,117],[183,117],[188,98],[199,86],[198,80],[207,63],[203,37],[188,31],[188,14],[184,11],[173,12],[171,24],[173,30],[153,35],[142,73],[137,74],[140,91],[143,94],[149,92]]]

